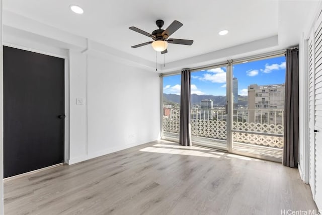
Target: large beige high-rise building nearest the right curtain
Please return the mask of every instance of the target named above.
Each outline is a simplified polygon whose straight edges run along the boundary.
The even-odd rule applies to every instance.
[[[248,86],[249,122],[282,124],[285,84]]]

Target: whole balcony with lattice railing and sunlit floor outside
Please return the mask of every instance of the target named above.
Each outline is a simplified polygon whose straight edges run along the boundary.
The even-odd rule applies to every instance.
[[[282,159],[284,110],[234,109],[232,122],[233,149]],[[164,138],[178,139],[180,109],[164,110]],[[227,138],[226,113],[222,108],[191,110],[192,141],[198,145],[225,149]]]

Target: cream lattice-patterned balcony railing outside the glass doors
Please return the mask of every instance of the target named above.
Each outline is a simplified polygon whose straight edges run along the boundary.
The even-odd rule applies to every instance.
[[[224,109],[191,109],[192,136],[225,140],[227,137]],[[284,110],[234,109],[232,138],[234,142],[266,147],[283,148]],[[165,108],[163,130],[179,133],[180,109]]]

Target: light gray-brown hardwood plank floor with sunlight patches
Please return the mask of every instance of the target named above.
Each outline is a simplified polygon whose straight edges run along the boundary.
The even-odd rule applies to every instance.
[[[5,214],[316,210],[297,169],[169,141],[5,180]]]

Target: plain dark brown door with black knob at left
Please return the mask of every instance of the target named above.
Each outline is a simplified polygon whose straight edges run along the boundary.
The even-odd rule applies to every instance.
[[[64,59],[4,46],[4,177],[64,160]]]

